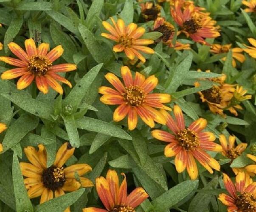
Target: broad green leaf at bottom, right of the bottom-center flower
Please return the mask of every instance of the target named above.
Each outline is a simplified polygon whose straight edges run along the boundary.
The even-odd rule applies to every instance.
[[[172,206],[186,198],[198,187],[198,180],[187,180],[169,189],[152,201],[155,211],[170,209]]]

